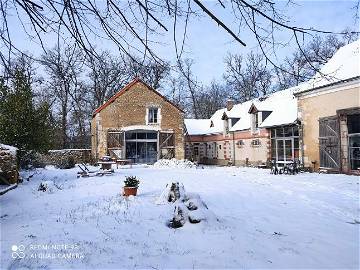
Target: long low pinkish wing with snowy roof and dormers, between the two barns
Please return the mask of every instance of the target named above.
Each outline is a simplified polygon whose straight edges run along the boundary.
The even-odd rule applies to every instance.
[[[290,88],[226,108],[210,119],[185,119],[186,156],[217,165],[268,165],[300,157],[297,100]]]

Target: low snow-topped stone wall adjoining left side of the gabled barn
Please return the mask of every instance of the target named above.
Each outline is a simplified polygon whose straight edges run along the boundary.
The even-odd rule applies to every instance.
[[[74,163],[92,163],[91,149],[61,149],[49,150],[47,154],[41,155],[41,161],[46,165],[62,163],[64,159],[72,158]]]

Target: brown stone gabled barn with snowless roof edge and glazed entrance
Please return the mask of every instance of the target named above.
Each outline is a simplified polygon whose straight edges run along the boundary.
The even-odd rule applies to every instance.
[[[183,159],[184,112],[136,78],[94,111],[91,137],[96,159]]]

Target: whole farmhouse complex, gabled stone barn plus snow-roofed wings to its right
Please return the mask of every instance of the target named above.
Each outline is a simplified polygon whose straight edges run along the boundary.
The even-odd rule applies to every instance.
[[[94,111],[92,154],[263,167],[297,160],[314,170],[359,173],[359,48],[360,41],[342,47],[296,87],[229,100],[210,119],[184,120],[180,108],[137,78]]]

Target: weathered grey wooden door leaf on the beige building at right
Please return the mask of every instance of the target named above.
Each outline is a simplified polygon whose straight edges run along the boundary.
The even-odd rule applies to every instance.
[[[340,134],[336,116],[319,119],[320,167],[340,169]]]

